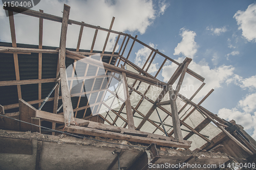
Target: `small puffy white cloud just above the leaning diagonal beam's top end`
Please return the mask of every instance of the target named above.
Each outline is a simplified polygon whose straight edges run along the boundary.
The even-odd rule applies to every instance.
[[[193,58],[197,53],[197,43],[195,42],[195,36],[197,35],[194,31],[189,31],[184,28],[180,29],[182,32],[182,40],[174,49],[174,55],[183,54],[186,57]]]

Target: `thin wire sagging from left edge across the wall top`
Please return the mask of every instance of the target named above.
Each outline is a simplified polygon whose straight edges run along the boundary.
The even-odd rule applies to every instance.
[[[89,137],[74,135],[74,134],[71,134],[71,133],[68,133],[68,132],[62,132],[62,131],[50,129],[50,128],[47,128],[47,127],[42,127],[42,126],[39,126],[39,125],[31,124],[31,123],[28,123],[28,122],[24,122],[23,120],[19,120],[19,119],[16,119],[16,118],[8,117],[8,116],[2,115],[2,114],[0,114],[0,116],[7,117],[7,118],[10,118],[10,119],[19,121],[19,122],[23,122],[25,124],[37,126],[37,127],[40,127],[40,128],[52,130],[52,131],[59,132],[59,133],[65,133],[65,134],[68,134],[68,135],[73,135],[73,136],[80,137],[80,138],[86,138],[86,139],[90,139],[90,140],[94,140],[94,141],[99,141],[99,142],[104,142],[104,143],[110,143],[110,144],[118,144],[118,145],[123,145],[123,146],[126,146],[126,147],[147,148],[147,147],[133,146],[133,145],[129,145],[129,144],[113,143],[113,142],[108,142],[108,141],[103,141],[103,140],[98,140],[98,139],[92,139],[92,138],[89,138]]]

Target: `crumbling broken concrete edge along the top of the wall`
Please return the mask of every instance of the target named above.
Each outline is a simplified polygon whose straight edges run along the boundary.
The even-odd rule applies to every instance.
[[[0,129],[0,137],[8,137],[8,138],[18,138],[18,139],[36,139],[38,141],[48,141],[48,142],[55,142],[58,144],[77,144],[77,145],[92,145],[94,147],[108,147],[108,148],[120,148],[120,149],[127,149],[127,150],[139,150],[145,151],[148,145],[141,145],[139,143],[133,144],[126,140],[115,140],[115,139],[107,139],[107,138],[100,138],[100,137],[90,137],[92,139],[103,140],[112,143],[105,143],[100,141],[95,141],[91,139],[79,139],[72,136],[67,136],[65,134],[61,134],[59,136],[47,135],[47,134],[40,134],[38,132],[17,132],[17,131],[9,131],[9,130],[2,130]],[[118,145],[118,144],[129,144],[129,146],[125,145]],[[137,147],[144,147],[144,148],[137,148]],[[177,156],[187,156],[191,155],[194,157],[208,157],[208,158],[222,158],[222,159],[230,159],[231,157],[225,153],[201,153],[201,152],[193,152],[187,150],[177,150],[172,148],[160,147],[157,146],[157,151],[159,156],[161,155],[177,155]]]

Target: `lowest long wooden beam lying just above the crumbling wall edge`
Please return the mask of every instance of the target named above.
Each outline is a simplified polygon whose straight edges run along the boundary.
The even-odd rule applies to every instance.
[[[78,126],[66,127],[65,130],[68,132],[71,132],[71,133],[108,137],[108,138],[113,138],[113,139],[118,139],[118,140],[127,140],[127,141],[147,143],[147,144],[156,143],[157,145],[163,145],[166,147],[179,147],[179,148],[189,148],[190,147],[190,144],[187,144],[187,143],[179,143],[179,142],[174,142],[174,141],[152,139],[152,138],[141,137],[141,136],[125,135],[125,134],[119,134],[119,133],[114,133],[114,132],[108,132],[108,131],[102,131],[102,130],[97,130],[97,129],[78,127]]]

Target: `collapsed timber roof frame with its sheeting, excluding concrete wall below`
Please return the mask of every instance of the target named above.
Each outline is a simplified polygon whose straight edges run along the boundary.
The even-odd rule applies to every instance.
[[[3,94],[0,99],[0,104],[3,105],[1,114],[19,116],[20,120],[37,125],[52,122],[53,130],[64,127],[68,132],[83,135],[147,144],[154,142],[166,147],[190,150],[210,150],[217,147],[216,150],[242,158],[256,153],[255,140],[249,138],[241,127],[200,106],[213,90],[198,104],[191,101],[205,83],[202,76],[188,68],[190,58],[179,63],[141,42],[137,36],[113,31],[114,17],[110,28],[105,29],[69,19],[70,7],[67,5],[64,5],[62,17],[21,7],[4,9],[9,12],[12,46],[8,43],[1,43],[0,46],[3,61],[1,69],[6,71],[1,74],[0,80]],[[13,12],[39,18],[38,46],[16,43]],[[42,46],[44,19],[62,23],[60,46],[57,49]],[[76,49],[66,48],[67,28],[72,25],[80,26]],[[80,50],[83,27],[95,30],[91,49],[88,51]],[[100,52],[94,51],[98,31],[108,32]],[[118,36],[112,52],[105,52],[110,34]],[[121,37],[123,40],[119,42]],[[130,40],[130,50],[124,57]],[[152,51],[142,68],[129,60],[136,44]],[[118,52],[117,45],[120,46]],[[163,62],[156,74],[151,75],[148,69],[157,57],[162,58]],[[157,77],[167,61],[177,64],[177,69],[165,83]],[[186,74],[202,82],[189,99],[179,93]],[[177,83],[176,89],[173,89],[174,83]],[[54,94],[47,97],[51,89]],[[45,97],[47,98],[43,99]],[[39,107],[41,103],[46,104]],[[17,111],[19,113],[13,113]],[[4,128],[14,129],[7,125],[8,121],[5,122],[5,119],[5,124],[2,124]],[[80,127],[74,126],[74,123]],[[15,130],[20,131],[33,129],[24,123],[16,128]],[[230,143],[236,146],[237,152],[230,147],[227,149]],[[225,149],[220,149],[218,144],[225,145]]]

